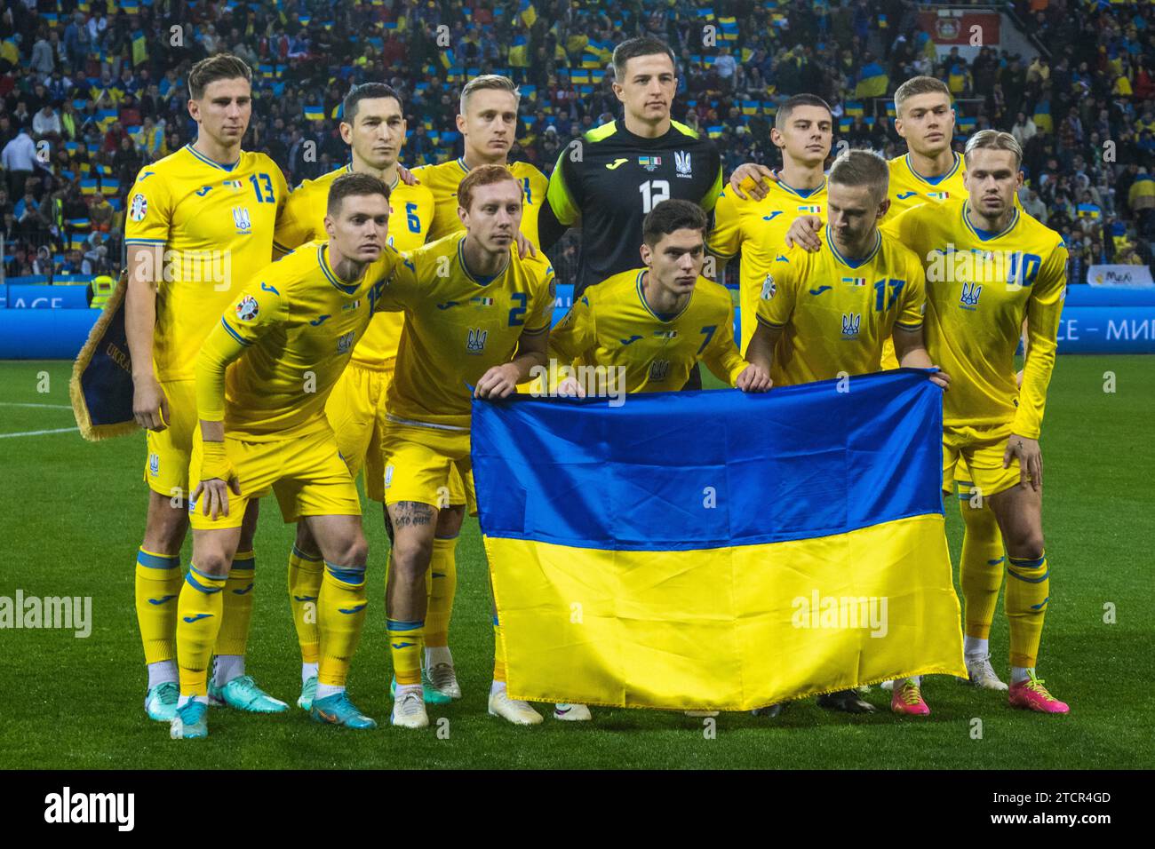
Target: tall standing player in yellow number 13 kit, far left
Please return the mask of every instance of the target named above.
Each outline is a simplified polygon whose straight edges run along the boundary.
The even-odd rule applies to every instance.
[[[188,114],[196,140],[140,172],[125,225],[133,414],[148,429],[144,481],[151,490],[136,556],[136,620],[149,676],[144,709],[162,722],[177,710],[176,599],[188,529],[196,355],[240,283],[271,260],[273,231],[289,195],[276,163],[240,149],[252,114],[251,80],[248,66],[228,53],[192,67]],[[288,706],[245,675],[256,507],[253,500],[223,593],[210,695],[243,710],[273,713]]]

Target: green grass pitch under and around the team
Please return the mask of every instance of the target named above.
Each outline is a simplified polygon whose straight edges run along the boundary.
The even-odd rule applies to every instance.
[[[0,363],[0,595],[14,596],[18,588],[25,595],[91,596],[94,619],[88,639],[62,631],[0,631],[2,767],[997,769],[1135,768],[1155,761],[1155,718],[1148,709],[1155,654],[1155,357],[1060,357],[1051,383],[1043,452],[1052,581],[1040,673],[1071,703],[1068,716],[1012,710],[1005,695],[936,677],[925,683],[933,710],[926,720],[897,720],[887,709],[889,694],[873,688],[867,699],[879,707],[874,715],[830,714],[807,700],[774,721],[723,714],[713,738],[701,720],[653,710],[595,709],[593,723],[547,717],[536,728],[489,716],[492,631],[475,520],[467,521],[457,550],[450,631],[464,699],[431,708],[434,724],[426,731],[389,728],[387,542],[380,513],[370,504],[371,608],[350,692],[382,728],[365,733],[325,728],[296,708],[277,716],[214,710],[208,740],[171,742],[167,727],[148,721],[142,709],[144,669],[133,609],[144,522],[144,438],[91,445],[74,430],[61,431],[75,424],[67,408],[69,370],[62,362]],[[1115,392],[1104,390],[1106,372],[1115,375]],[[953,502],[947,519],[957,564],[962,526]],[[292,536],[268,500],[256,541],[248,669],[290,702],[300,684],[285,591]],[[191,537],[185,566],[189,550]],[[1111,611],[1113,624],[1104,621]],[[996,669],[1006,676],[1001,602],[992,647]],[[441,736],[439,717],[448,718]]]

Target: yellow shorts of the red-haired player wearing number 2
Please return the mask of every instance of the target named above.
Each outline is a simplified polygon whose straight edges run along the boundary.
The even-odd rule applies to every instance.
[[[477,515],[469,431],[389,422],[383,441],[386,504],[418,501],[438,508],[464,504],[471,516]],[[454,492],[455,478],[463,497]]]

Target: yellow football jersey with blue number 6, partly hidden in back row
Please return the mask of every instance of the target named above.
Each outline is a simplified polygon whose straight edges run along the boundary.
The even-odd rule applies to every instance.
[[[341,174],[352,173],[352,164],[338,167],[315,180],[305,180],[285,206],[274,244],[288,253],[306,241],[326,240],[325,214],[329,187]],[[425,244],[433,224],[433,193],[425,186],[409,186],[400,179],[389,187],[389,244],[398,251],[412,251]],[[382,312],[373,316],[368,329],[353,349],[353,362],[380,367],[397,356],[401,341],[401,313]]]

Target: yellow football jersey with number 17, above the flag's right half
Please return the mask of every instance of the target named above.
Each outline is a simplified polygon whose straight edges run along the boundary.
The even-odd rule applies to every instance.
[[[784,328],[770,378],[792,386],[877,372],[882,341],[895,325],[922,327],[925,307],[922,263],[897,239],[879,233],[874,250],[852,262],[824,228],[821,248],[790,248],[762,284],[758,321]]]

